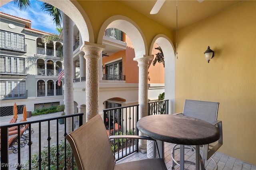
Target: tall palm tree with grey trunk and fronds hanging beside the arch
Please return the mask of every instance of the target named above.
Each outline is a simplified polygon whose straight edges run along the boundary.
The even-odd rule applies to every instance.
[[[14,4],[18,6],[20,10],[28,9],[31,4],[30,0],[14,0]],[[66,14],[62,13],[58,8],[43,3],[42,10],[48,12],[52,16],[52,20],[56,26],[63,25],[63,56],[64,56],[64,74],[65,74],[65,111],[67,114],[74,113],[74,94],[73,94],[73,69],[71,63],[73,63],[73,45],[72,45],[72,34],[73,25],[72,20]],[[69,123],[68,123],[69,124]],[[69,125],[68,125],[69,126]],[[69,126],[71,127],[71,126]],[[68,130],[70,131],[70,130]]]

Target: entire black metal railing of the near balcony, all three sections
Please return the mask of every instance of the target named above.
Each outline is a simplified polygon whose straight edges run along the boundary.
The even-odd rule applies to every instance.
[[[162,101],[156,103],[158,103],[158,105],[161,105],[161,102]],[[168,103],[168,100],[166,100],[166,102]],[[110,134],[138,135],[138,129],[136,128],[136,124],[138,121],[138,106],[139,105],[132,105],[126,107],[104,109],[103,121],[106,126],[106,131],[108,132],[109,130]],[[164,109],[166,108],[168,107],[164,107]],[[164,111],[164,113],[168,114],[167,110]],[[152,113],[148,113],[148,115],[152,115]],[[75,117],[78,117],[78,121],[75,121]],[[52,169],[50,168],[52,166],[55,166],[55,169],[60,169],[58,163],[58,161],[60,161],[60,158],[63,158],[62,160],[71,160],[71,162],[68,162],[68,164],[64,161],[62,164],[62,166],[64,167],[62,169],[67,169],[68,165],[70,166],[68,169],[74,169],[74,158],[66,157],[67,149],[70,149],[70,147],[67,146],[68,142],[64,138],[64,136],[66,136],[68,133],[68,125],[73,125],[71,131],[73,131],[75,127],[80,127],[82,125],[82,117],[83,113],[77,113],[61,117],[53,117],[50,119],[37,119],[36,121],[26,121],[8,125],[1,125],[1,165],[3,165],[1,169],[8,169],[8,166],[10,166],[10,164],[8,164],[9,157],[16,158],[12,159],[17,161],[12,161],[12,165],[15,164],[20,166],[28,166],[27,168],[29,169],[35,168],[32,167],[32,159],[36,158],[36,161],[34,161],[37,162],[37,167],[39,167],[36,169],[41,169],[43,152],[39,151],[42,151],[44,148],[47,148],[44,149],[44,152],[46,152],[46,158],[44,160],[46,160],[47,162],[46,166],[48,166],[48,169]],[[62,118],[64,118],[65,120],[64,124],[59,124],[58,121]],[[115,123],[118,124],[118,129],[114,128]],[[28,125],[26,131],[23,134],[18,133],[18,137],[16,138],[14,143],[12,145],[9,145],[8,139],[11,136],[9,136],[8,128],[17,127],[18,129],[20,129],[24,127],[24,125]],[[60,152],[60,150],[58,149],[56,150],[56,148],[59,148],[61,140],[62,142],[64,141],[63,152]],[[133,152],[138,152],[138,140],[123,139],[118,141],[119,142],[115,141],[116,160],[120,160],[132,154]],[[51,150],[53,149],[52,144],[56,144],[56,146],[54,146],[54,151]],[[8,152],[8,149],[12,150],[14,153]],[[50,154],[52,152],[54,152],[54,156],[50,157]],[[36,153],[36,157],[33,157],[32,155]],[[24,161],[21,161],[21,158],[24,157],[28,160],[26,164],[24,163]],[[51,164],[50,160],[55,160],[52,161],[54,162],[54,164]]]

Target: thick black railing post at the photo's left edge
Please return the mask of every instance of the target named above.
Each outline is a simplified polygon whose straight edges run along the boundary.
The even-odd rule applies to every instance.
[[[8,128],[1,127],[1,170],[8,170]]]

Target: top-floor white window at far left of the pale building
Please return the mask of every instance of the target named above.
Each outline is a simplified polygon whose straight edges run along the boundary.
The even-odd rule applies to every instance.
[[[18,51],[26,51],[25,36],[0,30],[0,47]]]

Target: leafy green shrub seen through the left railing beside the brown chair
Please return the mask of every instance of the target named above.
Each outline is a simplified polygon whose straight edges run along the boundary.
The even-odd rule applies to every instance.
[[[58,152],[57,153],[57,145],[54,144],[50,146],[50,169],[51,170],[57,170],[57,154],[59,154],[59,170],[63,170],[65,166],[65,142],[62,140],[58,145]],[[48,169],[48,146],[44,147],[44,149],[41,151],[41,169],[46,170]],[[32,170],[38,170],[39,169],[39,152],[36,154],[33,154],[31,156],[31,169]],[[29,160],[26,160],[24,164],[29,164]],[[70,144],[66,143],[66,169],[70,170],[72,169],[72,150],[70,147]],[[22,167],[22,170],[27,170],[29,167]],[[76,161],[74,160],[74,170],[78,170]]]

